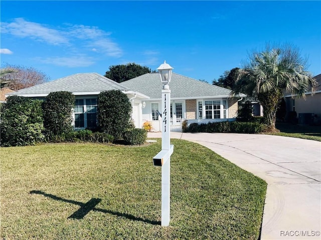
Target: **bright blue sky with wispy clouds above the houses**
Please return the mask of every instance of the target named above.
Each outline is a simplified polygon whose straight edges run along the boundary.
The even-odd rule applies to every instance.
[[[321,1],[1,0],[1,65],[51,80],[135,62],[212,82],[267,42],[290,43],[321,73]]]

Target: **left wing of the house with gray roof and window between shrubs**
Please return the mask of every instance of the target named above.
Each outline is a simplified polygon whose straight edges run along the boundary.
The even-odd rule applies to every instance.
[[[131,90],[98,73],[77,73],[58,78],[35,86],[24,88],[9,94],[45,99],[52,91],[70,91],[75,95],[76,102],[73,112],[75,129],[84,129],[97,126],[97,96],[101,91],[120,90],[125,93],[133,107],[133,119],[136,126],[141,125],[141,99],[148,96]]]

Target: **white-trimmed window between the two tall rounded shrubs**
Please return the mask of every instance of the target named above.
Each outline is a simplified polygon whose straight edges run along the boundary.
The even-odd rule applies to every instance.
[[[97,126],[97,99],[76,99],[75,127],[96,127]]]

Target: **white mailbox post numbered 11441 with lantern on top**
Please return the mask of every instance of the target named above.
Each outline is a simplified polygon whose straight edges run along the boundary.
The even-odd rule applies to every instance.
[[[172,69],[166,61],[161,64],[157,70],[161,81],[162,88],[162,150],[153,157],[153,165],[162,167],[162,226],[170,224],[170,173],[171,173],[171,155],[174,151],[174,145],[171,141],[171,90],[169,82],[171,81]]]

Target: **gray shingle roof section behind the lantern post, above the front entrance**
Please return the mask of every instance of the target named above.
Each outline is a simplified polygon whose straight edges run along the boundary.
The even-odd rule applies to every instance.
[[[120,84],[148,95],[152,99],[162,98],[162,82],[158,72],[146,73],[130,80],[123,81]],[[229,89],[174,72],[172,73],[169,86],[172,98],[228,96],[231,92]]]

